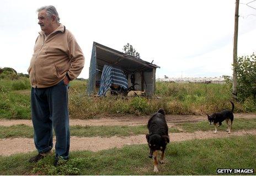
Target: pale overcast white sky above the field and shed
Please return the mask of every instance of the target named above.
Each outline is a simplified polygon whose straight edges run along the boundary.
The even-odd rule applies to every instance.
[[[256,1],[252,1],[240,0],[238,57],[256,51]],[[0,67],[27,73],[40,31],[36,10],[54,5],[86,59],[78,78],[89,77],[94,41],[118,51],[130,43],[141,59],[161,67],[156,78],[232,76],[235,2],[0,0]]]

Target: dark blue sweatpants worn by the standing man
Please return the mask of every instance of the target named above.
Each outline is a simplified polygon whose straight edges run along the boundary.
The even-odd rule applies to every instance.
[[[52,149],[52,127],[56,135],[56,158],[67,159],[70,151],[68,119],[68,86],[63,80],[57,85],[31,89],[31,114],[34,142],[39,153]]]

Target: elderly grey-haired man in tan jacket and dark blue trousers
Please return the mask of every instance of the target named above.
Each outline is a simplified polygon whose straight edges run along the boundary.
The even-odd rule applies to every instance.
[[[84,57],[76,39],[60,24],[54,6],[38,9],[41,27],[28,69],[31,83],[31,115],[34,142],[38,155],[29,162],[38,162],[51,153],[52,127],[55,130],[55,161],[68,159],[70,129],[68,120],[68,86],[84,65]]]

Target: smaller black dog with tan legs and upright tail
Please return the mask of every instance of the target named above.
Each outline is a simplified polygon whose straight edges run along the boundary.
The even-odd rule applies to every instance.
[[[213,113],[213,114],[211,114],[211,116],[209,116],[207,114],[207,117],[208,117],[208,120],[209,120],[210,124],[212,124],[212,123],[214,124],[214,127],[215,127],[214,133],[217,133],[217,124],[218,124],[218,127],[220,127],[220,125],[222,124],[222,122],[224,120],[226,120],[226,123],[228,125],[226,131],[228,131],[228,133],[230,133],[231,125],[232,125],[233,120],[234,120],[234,115],[233,115],[234,103],[232,101],[230,101],[230,102],[232,104],[232,109],[231,110],[224,110],[224,111],[221,111],[221,112]]]

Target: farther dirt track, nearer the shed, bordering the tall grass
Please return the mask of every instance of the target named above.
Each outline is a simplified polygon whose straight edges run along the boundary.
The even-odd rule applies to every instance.
[[[70,119],[70,125],[90,125],[90,126],[102,126],[102,125],[146,125],[149,116],[124,116],[124,117],[108,117],[102,119]],[[256,114],[251,113],[236,113],[234,118],[256,118]],[[199,122],[206,120],[206,116],[189,116],[189,115],[167,115],[166,121],[168,124],[182,123],[182,122]],[[0,119],[0,125],[11,126],[17,124],[25,124],[32,126],[31,120],[6,120]]]

